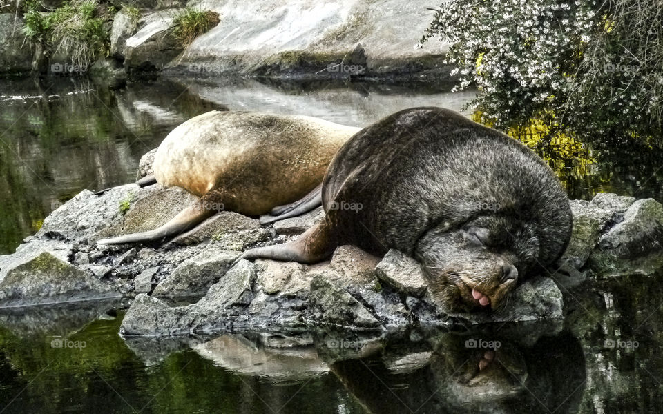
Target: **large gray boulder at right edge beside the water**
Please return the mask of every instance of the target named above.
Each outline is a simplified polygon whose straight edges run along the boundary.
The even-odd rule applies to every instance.
[[[628,207],[624,220],[599,239],[589,259],[599,274],[653,274],[663,268],[663,206],[640,199]]]

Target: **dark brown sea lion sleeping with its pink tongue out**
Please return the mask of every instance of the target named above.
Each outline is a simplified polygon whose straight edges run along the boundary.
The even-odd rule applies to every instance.
[[[442,108],[385,117],[347,141],[323,180],[326,217],[294,242],[242,257],[313,263],[336,246],[417,259],[450,311],[496,308],[555,263],[571,232],[568,197],[534,152]]]

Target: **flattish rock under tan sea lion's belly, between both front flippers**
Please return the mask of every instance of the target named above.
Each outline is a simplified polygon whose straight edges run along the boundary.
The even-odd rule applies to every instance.
[[[271,233],[260,226],[260,221],[231,211],[222,211],[175,237],[171,244],[191,246],[213,240],[228,250],[246,250],[249,246],[269,239]]]

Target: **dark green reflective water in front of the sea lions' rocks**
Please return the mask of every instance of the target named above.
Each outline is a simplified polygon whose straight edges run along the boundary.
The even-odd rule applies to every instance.
[[[0,412],[659,413],[659,277],[561,288],[564,322],[386,338],[122,338],[122,304],[3,309]]]

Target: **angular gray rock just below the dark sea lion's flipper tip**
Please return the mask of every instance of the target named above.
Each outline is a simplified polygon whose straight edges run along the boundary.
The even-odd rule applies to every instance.
[[[209,288],[208,293],[198,303],[199,306],[227,308],[234,305],[248,305],[253,299],[253,282],[256,281],[256,270],[253,263],[240,260]]]

